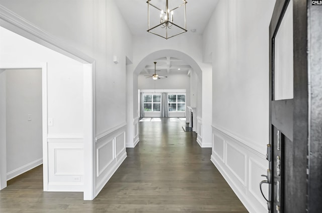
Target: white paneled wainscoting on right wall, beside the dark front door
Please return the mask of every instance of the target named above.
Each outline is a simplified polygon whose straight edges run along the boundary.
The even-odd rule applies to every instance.
[[[267,212],[259,183],[265,177],[268,161],[265,153],[249,146],[250,142],[237,140],[233,134],[212,127],[211,161],[250,213]],[[267,187],[267,186],[264,186]],[[268,188],[264,188],[268,196]]]

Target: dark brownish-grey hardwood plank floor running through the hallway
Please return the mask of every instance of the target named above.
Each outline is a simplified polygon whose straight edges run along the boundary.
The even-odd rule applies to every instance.
[[[43,192],[42,166],[8,181],[0,212],[248,212],[200,148],[185,121],[139,122],[140,142],[92,201]]]

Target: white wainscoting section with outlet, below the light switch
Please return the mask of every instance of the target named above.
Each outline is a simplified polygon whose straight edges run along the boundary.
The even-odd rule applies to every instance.
[[[84,190],[84,142],[81,136],[48,135],[48,191]]]

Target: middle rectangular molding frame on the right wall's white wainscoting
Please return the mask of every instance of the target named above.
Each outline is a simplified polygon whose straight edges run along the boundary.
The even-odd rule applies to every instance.
[[[247,186],[247,154],[243,151],[241,151],[240,149],[238,149],[238,147],[236,147],[235,145],[233,145],[232,143],[225,141],[225,152],[224,152],[224,158],[225,158],[225,165],[227,166],[227,168],[231,171],[231,173],[233,173],[235,175],[235,177],[246,187]],[[228,164],[228,160],[227,160],[227,155],[228,155],[228,146],[230,146],[232,149],[234,149],[236,152],[239,152],[241,155],[243,155],[244,157],[244,162],[241,160],[236,160],[236,163],[243,163],[239,166],[243,166],[245,174],[244,177],[241,177],[239,174],[237,174],[237,172],[231,168],[231,166]]]

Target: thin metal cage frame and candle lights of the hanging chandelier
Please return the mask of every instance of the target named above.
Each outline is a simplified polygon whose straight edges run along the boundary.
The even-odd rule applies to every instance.
[[[159,37],[162,37],[164,39],[170,39],[172,37],[175,37],[175,36],[178,36],[180,34],[183,34],[183,33],[186,33],[187,32],[187,17],[186,17],[186,4],[187,4],[187,1],[186,0],[182,0],[182,4],[175,7],[174,9],[170,10],[169,7],[168,7],[168,0],[166,0],[166,11],[163,11],[162,9],[159,9],[158,7],[156,7],[155,5],[151,4],[152,0],[148,0],[146,3],[147,3],[147,32],[148,33],[151,33],[151,34],[154,34],[156,36],[159,36]],[[161,16],[160,16],[160,24],[150,28],[150,6],[159,10],[161,12]],[[184,27],[180,27],[179,25],[176,25],[174,22],[173,22],[173,12],[180,8],[180,7],[184,7],[184,11],[185,11],[185,26]],[[163,17],[163,14],[165,14],[165,18]],[[171,14],[171,15],[170,15]],[[171,17],[171,19],[170,19]],[[168,30],[171,29],[173,26],[176,26],[178,27],[179,29],[183,30],[182,32],[179,32],[173,36],[168,36]],[[161,28],[165,28],[166,29],[166,36],[162,36],[162,35],[159,35],[157,33],[154,33],[152,32],[153,29],[157,28],[157,27],[161,27]]]

